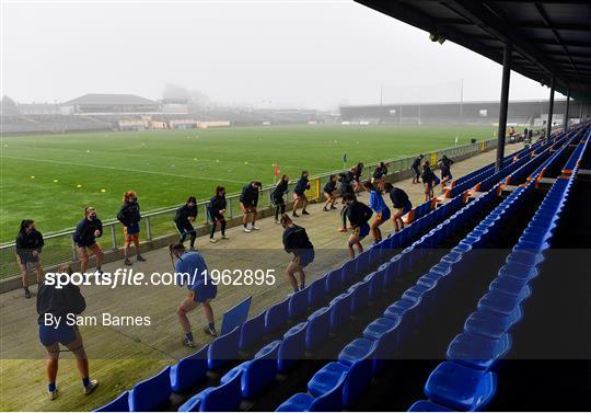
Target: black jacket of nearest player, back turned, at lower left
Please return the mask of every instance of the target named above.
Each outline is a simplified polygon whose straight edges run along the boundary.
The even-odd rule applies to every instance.
[[[55,285],[42,283],[37,291],[37,322],[45,323],[45,314],[54,314],[63,318],[68,314],[80,314],[86,309],[86,301],[80,288],[72,283],[66,284],[62,288]],[[60,324],[62,325],[62,324]]]

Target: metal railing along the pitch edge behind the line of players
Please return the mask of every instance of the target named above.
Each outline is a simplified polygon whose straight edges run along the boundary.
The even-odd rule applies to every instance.
[[[448,158],[456,159],[460,157],[473,157],[475,154],[482,153],[489,149],[496,148],[497,140],[489,139],[478,141],[476,144],[468,144],[463,146],[456,146],[452,148],[440,149],[432,152],[424,152],[426,160],[440,159],[443,154]],[[405,158],[394,158],[383,160],[387,164],[389,174],[405,172],[410,170],[410,165],[416,158],[415,156],[405,157]],[[363,173],[367,174],[368,179],[371,179],[373,171],[378,162],[366,165]],[[318,197],[322,197],[322,188],[332,174],[338,174],[344,172],[343,170],[336,170],[320,175],[311,176],[311,181],[316,179],[320,181],[320,191]],[[293,190],[296,181],[289,183],[290,192]],[[263,187],[259,194],[259,209],[270,208],[271,197],[270,194],[275,185],[269,185]],[[227,196],[228,207],[227,207],[227,218],[232,219],[234,217],[241,216],[242,211],[240,209],[240,194],[229,194]],[[208,225],[207,219],[207,200],[198,202],[197,204],[197,219],[194,222],[195,227]],[[174,233],[175,228],[173,225],[173,219],[176,209],[179,205],[165,208],[152,210],[146,214],[142,214],[140,221],[140,241],[150,242],[157,238],[171,236]],[[77,248],[72,241],[72,234],[74,228],[66,229],[55,233],[48,233],[44,236],[45,246],[42,254],[42,263],[44,266],[53,266],[66,262],[76,262],[78,261]],[[117,250],[124,244],[124,233],[123,226],[116,219],[103,221],[103,237],[100,239],[102,246],[105,251]],[[14,242],[4,243],[0,245],[0,279],[8,278],[19,274],[19,266],[15,260]]]

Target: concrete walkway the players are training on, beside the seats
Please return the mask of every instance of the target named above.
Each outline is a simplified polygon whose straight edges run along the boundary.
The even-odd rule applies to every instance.
[[[511,145],[507,154],[521,149]],[[495,151],[457,162],[452,167],[454,176],[462,176],[495,160]],[[422,202],[422,185],[413,185],[410,180],[396,186],[405,190],[413,202]],[[367,194],[361,200],[367,202]],[[390,204],[390,199],[387,199]],[[309,207],[310,216],[297,218],[315,246],[316,259],[306,268],[308,284],[347,260],[346,233],[337,232],[338,210],[322,211],[322,205]],[[285,279],[285,267],[290,261],[281,248],[282,229],[273,218],[263,219],[257,225],[259,231],[244,233],[242,227],[228,230],[230,240],[219,240],[212,244],[206,237],[197,240],[197,248],[204,253],[209,269],[275,269],[276,283],[264,286],[219,286],[218,297],[212,302],[218,328],[221,316],[235,303],[252,296],[250,317],[258,314],[270,305],[287,297],[291,288]],[[392,222],[382,226],[384,237],[393,232]],[[217,233],[219,237],[219,233]],[[368,237],[363,244],[372,242]],[[132,269],[151,274],[171,272],[172,264],[166,249],[147,253],[144,263],[134,263]],[[115,272],[121,262],[104,265],[105,272]],[[35,288],[35,287],[34,287]],[[176,286],[82,286],[86,299],[84,316],[93,316],[99,325],[81,326],[86,352],[91,358],[92,377],[101,380],[99,389],[90,397],[82,394],[80,380],[70,354],[65,358],[58,375],[60,397],[50,402],[45,394],[44,358],[45,349],[37,339],[37,314],[35,298],[25,300],[21,290],[0,295],[1,321],[1,377],[0,410],[92,410],[123,390],[130,389],[138,380],[158,372],[164,365],[183,357],[195,349],[185,348],[182,330],[176,319],[176,307],[187,294]],[[34,289],[33,289],[34,292]],[[121,326],[101,325],[102,313],[114,316],[149,317],[150,325]],[[189,319],[194,325],[197,347],[210,342],[202,333],[205,324],[200,309]]]

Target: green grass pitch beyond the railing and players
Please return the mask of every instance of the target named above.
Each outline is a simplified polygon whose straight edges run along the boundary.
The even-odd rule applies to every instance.
[[[115,217],[135,190],[142,211],[209,198],[216,185],[235,193],[250,180],[273,183],[274,163],[297,179],[348,164],[399,158],[487,139],[493,127],[301,125],[165,131],[3,136],[0,241],[21,219],[44,232],[73,227],[84,206]],[[171,227],[172,230],[172,227]]]

